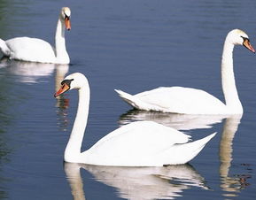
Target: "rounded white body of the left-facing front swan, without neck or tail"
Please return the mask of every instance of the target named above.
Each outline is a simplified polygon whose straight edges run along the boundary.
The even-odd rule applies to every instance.
[[[190,135],[152,121],[137,121],[105,135],[81,154],[81,162],[92,165],[163,165],[177,143],[189,142]],[[163,155],[166,155],[163,156]],[[166,161],[166,163],[165,163]]]

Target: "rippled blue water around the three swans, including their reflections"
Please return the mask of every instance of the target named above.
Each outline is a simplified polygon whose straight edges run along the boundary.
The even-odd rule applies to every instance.
[[[63,4],[62,4],[63,3]],[[203,88],[223,100],[221,51],[233,28],[256,46],[254,1],[0,1],[0,37],[54,43],[60,7],[72,10],[66,32],[71,65],[0,64],[1,199],[255,199],[256,57],[234,51],[240,117],[132,111],[113,88],[131,94],[159,86]],[[151,119],[198,139],[218,132],[190,165],[104,167],[63,164],[77,93],[56,100],[66,74],[91,88],[83,150],[122,124]]]

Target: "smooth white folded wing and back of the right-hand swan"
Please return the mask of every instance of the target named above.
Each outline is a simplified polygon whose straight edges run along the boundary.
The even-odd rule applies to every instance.
[[[161,107],[167,112],[198,113],[198,109],[204,112],[221,113],[226,109],[218,98],[204,90],[196,88],[155,88],[136,95],[141,101],[152,106]]]

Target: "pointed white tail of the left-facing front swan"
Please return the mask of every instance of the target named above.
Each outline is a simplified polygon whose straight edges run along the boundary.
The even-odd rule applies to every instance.
[[[194,142],[176,144],[175,150],[172,150],[172,154],[168,158],[168,160],[174,160],[174,162],[169,162],[167,165],[180,165],[190,162],[190,160],[195,158],[206,146],[206,143],[209,142],[216,134],[217,133],[213,133],[212,135],[208,135]],[[172,159],[172,156],[175,158]]]

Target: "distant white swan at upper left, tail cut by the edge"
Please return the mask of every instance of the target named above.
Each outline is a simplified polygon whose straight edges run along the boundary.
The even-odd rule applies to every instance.
[[[69,56],[66,52],[65,27],[71,29],[70,9],[64,7],[58,17],[55,35],[55,48],[49,42],[31,37],[15,37],[4,41],[0,39],[0,50],[4,57],[11,59],[39,62],[69,64]]]

